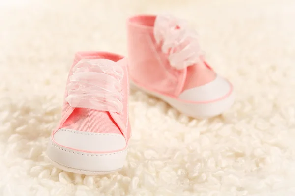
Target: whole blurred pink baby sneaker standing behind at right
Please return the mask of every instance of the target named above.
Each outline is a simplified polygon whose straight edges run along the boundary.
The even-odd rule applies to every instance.
[[[172,16],[127,21],[133,86],[195,118],[221,114],[234,103],[232,84],[204,60],[196,33]]]

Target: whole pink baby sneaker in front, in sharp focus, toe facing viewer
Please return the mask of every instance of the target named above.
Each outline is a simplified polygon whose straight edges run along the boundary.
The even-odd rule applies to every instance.
[[[128,71],[122,56],[78,52],[70,69],[61,120],[47,155],[56,167],[79,174],[121,169],[130,138]]]

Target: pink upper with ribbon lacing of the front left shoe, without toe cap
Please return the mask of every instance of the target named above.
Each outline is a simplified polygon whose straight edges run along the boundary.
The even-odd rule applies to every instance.
[[[63,128],[117,133],[128,141],[128,89],[125,58],[108,52],[76,53],[69,71],[61,120],[53,135]]]

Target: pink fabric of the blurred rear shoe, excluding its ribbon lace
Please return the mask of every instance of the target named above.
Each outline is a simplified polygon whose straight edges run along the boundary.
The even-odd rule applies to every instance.
[[[216,73],[205,61],[180,70],[170,65],[168,55],[154,38],[155,19],[153,15],[140,15],[127,22],[130,78],[148,90],[173,97],[214,80]]]

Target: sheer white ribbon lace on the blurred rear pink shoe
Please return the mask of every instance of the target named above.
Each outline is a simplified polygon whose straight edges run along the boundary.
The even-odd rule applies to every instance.
[[[156,43],[162,44],[162,52],[168,54],[169,63],[175,69],[202,61],[197,33],[184,21],[169,15],[157,16],[153,33]]]

